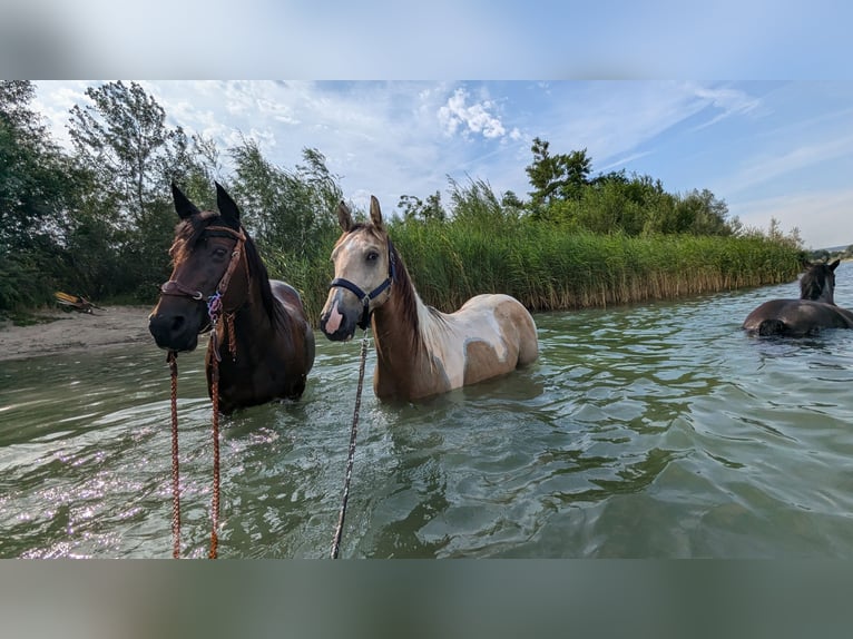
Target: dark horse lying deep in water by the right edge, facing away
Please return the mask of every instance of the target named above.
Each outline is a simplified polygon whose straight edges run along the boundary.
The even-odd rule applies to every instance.
[[[771,299],[749,313],[743,327],[757,335],[802,337],[821,328],[853,328],[853,311],[835,306],[840,260],[814,264],[800,278],[800,299]]]

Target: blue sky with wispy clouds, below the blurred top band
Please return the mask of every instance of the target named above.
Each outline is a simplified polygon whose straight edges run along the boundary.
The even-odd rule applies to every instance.
[[[853,83],[841,81],[141,81],[171,125],[241,135],[285,168],[325,155],[345,197],[442,191],[484,179],[527,197],[539,136],[552,153],[586,148],[592,173],[707,188],[746,226],[797,227],[806,246],[853,243]],[[67,137],[87,82],[37,82],[36,106]],[[223,154],[227,160],[226,155]],[[227,176],[227,161],[224,174]]]

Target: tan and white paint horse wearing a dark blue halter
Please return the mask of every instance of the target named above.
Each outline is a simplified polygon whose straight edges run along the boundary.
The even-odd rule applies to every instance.
[[[371,197],[370,224],[354,224],[341,203],[343,235],[332,250],[335,278],[320,327],[333,341],[355,327],[373,328],[380,400],[419,400],[474,384],[536,361],[536,324],[509,295],[477,295],[455,313],[441,313],[418,296]]]

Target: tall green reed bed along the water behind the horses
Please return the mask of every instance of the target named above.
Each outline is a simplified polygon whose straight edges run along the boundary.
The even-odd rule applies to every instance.
[[[800,250],[765,237],[592,235],[518,220],[395,223],[390,233],[421,298],[445,312],[479,293],[558,311],[791,282],[801,272]],[[268,260],[303,294],[314,322],[332,278],[331,248]]]

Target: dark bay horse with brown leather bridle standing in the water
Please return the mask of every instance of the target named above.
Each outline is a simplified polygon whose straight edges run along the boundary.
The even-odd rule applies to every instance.
[[[200,212],[175,185],[171,195],[182,222],[169,249],[171,276],[148,318],[157,345],[193,351],[199,333],[214,330],[207,389],[213,397],[212,357],[217,357],[223,413],[300,397],[314,364],[314,333],[298,293],[268,278],[222,186],[216,185],[218,214]]]

